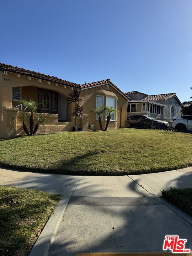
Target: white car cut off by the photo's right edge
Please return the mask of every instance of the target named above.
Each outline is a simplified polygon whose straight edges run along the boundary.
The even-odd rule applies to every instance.
[[[174,117],[171,126],[176,130],[192,131],[192,115]]]

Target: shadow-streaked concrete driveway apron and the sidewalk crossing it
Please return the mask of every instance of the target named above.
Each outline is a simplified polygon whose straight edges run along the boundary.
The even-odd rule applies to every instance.
[[[187,239],[186,247],[192,248],[192,218],[160,198],[162,188],[192,187],[192,167],[130,176],[30,176],[24,172],[22,179],[21,172],[11,173],[18,173],[20,180],[9,185],[70,198],[49,256],[162,251],[167,234]],[[5,169],[0,170],[0,178],[7,184],[6,175]]]

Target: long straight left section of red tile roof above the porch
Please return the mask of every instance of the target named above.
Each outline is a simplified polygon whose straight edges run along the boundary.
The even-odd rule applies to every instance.
[[[45,75],[36,71],[31,71],[28,69],[18,68],[17,66],[11,66],[4,63],[0,63],[0,71],[3,71],[3,70],[20,74],[20,75],[31,76],[32,78],[42,79],[49,82],[54,82],[56,84],[62,84],[62,85],[67,85],[71,87],[76,87],[76,88],[79,88],[80,86],[79,84],[75,84],[74,82],[69,82],[69,81],[57,78],[55,76]]]

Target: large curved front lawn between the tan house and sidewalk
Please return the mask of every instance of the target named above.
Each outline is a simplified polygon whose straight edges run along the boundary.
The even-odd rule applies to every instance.
[[[192,134],[147,129],[62,132],[0,140],[0,165],[84,175],[142,174],[192,165]]]

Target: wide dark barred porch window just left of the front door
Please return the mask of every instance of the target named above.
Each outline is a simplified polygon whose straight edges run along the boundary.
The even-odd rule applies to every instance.
[[[57,94],[38,91],[38,104],[39,109],[57,110]]]

